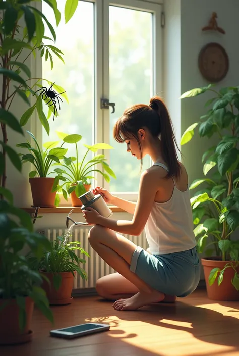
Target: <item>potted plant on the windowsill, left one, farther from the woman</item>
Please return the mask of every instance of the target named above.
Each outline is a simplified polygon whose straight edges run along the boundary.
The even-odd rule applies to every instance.
[[[58,205],[58,197],[56,199],[56,191],[59,180],[66,180],[61,175],[56,177],[48,177],[52,162],[60,162],[60,159],[67,153],[67,148],[55,147],[58,142],[47,142],[43,146],[45,150],[40,149],[40,146],[35,136],[27,131],[33,138],[36,147],[32,147],[27,140],[24,143],[19,143],[16,146],[25,148],[29,151],[28,154],[22,155],[22,162],[30,162],[34,165],[35,170],[29,173],[29,182],[31,184],[32,199],[34,207],[54,207]],[[54,173],[54,172],[53,172]],[[38,175],[38,177],[35,177]]]

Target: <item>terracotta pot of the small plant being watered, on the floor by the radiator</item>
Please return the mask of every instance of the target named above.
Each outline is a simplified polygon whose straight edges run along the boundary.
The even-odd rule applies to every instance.
[[[62,283],[58,290],[54,288],[53,284],[53,275],[57,273],[51,272],[42,272],[49,279],[50,284],[44,280],[42,284],[42,288],[45,290],[47,298],[49,299],[49,303],[52,306],[63,305],[63,304],[71,304],[73,297],[72,289],[74,285],[74,277],[71,272],[59,272],[62,276]],[[74,272],[76,275],[76,271]]]

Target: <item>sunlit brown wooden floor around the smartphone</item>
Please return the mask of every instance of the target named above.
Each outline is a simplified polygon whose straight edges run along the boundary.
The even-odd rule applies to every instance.
[[[205,290],[120,312],[96,296],[74,298],[69,306],[53,307],[55,325],[34,311],[31,343],[0,347],[1,356],[238,356],[239,302],[214,302]],[[85,322],[109,323],[110,331],[75,340],[49,336],[49,330]]]

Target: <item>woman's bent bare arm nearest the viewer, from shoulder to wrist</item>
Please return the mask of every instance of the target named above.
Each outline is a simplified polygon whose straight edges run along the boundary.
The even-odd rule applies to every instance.
[[[96,224],[107,227],[111,230],[138,236],[144,230],[154,198],[158,190],[159,175],[155,170],[148,170],[142,173],[140,179],[139,198],[136,204],[132,220],[113,220],[97,215]],[[87,217],[87,214],[86,214]]]

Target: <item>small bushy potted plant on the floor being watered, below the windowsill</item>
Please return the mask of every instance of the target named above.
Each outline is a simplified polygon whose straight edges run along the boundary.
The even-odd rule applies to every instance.
[[[79,266],[86,260],[81,259],[74,251],[79,251],[89,257],[88,253],[81,248],[80,242],[69,242],[70,230],[64,236],[57,237],[51,243],[50,248],[44,250],[40,261],[35,257],[29,257],[32,268],[37,269],[46,278],[42,288],[52,305],[70,304],[72,301],[72,289],[74,278],[78,273],[81,278],[87,279],[85,270]]]

